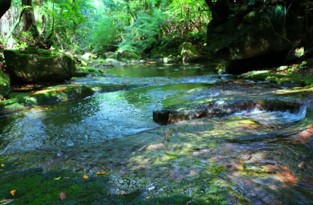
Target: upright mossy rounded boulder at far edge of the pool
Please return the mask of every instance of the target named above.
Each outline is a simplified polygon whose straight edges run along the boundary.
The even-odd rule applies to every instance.
[[[203,56],[197,51],[196,47],[187,42],[184,42],[179,46],[179,53],[182,57],[182,62],[195,62],[203,58]]]

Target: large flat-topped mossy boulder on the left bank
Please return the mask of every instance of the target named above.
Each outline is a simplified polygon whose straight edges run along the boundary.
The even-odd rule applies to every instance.
[[[21,82],[61,82],[73,77],[75,61],[60,52],[43,49],[5,50],[7,71]]]

